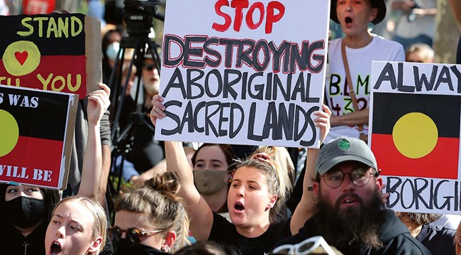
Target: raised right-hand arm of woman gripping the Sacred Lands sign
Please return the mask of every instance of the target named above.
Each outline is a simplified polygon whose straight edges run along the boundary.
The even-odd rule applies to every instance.
[[[317,116],[314,119],[316,126],[320,128],[321,131],[321,141],[325,139],[328,131],[330,130],[330,116],[331,110],[328,109],[326,105],[323,105],[323,112],[318,111],[314,112]],[[318,148],[308,148],[307,149],[307,160],[306,160],[306,173],[304,174],[304,183],[303,183],[303,195],[299,201],[296,210],[294,210],[293,217],[291,217],[291,234],[297,234],[299,229],[303,227],[307,219],[309,219],[315,212],[315,201],[313,190],[310,190],[312,187],[312,179],[315,178],[316,170],[316,159],[318,156]]]

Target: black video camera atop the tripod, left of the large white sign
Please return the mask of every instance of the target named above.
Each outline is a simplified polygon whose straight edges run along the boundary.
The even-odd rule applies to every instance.
[[[147,36],[150,33],[153,18],[164,20],[158,6],[162,0],[125,0],[123,18],[126,32],[130,36]]]

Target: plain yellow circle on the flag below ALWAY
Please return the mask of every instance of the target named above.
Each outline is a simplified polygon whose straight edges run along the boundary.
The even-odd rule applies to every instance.
[[[434,121],[421,112],[401,116],[392,130],[397,150],[408,158],[422,158],[433,151],[438,140]]]

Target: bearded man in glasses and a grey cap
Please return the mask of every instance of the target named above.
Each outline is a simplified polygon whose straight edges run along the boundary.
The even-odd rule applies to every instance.
[[[318,152],[313,180],[316,214],[299,234],[277,244],[322,236],[343,254],[431,254],[384,207],[376,159],[360,139],[340,137]]]

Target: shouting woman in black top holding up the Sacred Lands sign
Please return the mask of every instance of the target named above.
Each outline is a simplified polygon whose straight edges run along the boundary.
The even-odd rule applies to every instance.
[[[155,95],[152,98],[150,118],[155,124],[157,118],[165,116],[163,98]],[[316,126],[320,127],[321,140],[328,133],[331,111],[324,107],[323,111],[314,113]],[[313,149],[318,151],[317,149]],[[165,141],[167,169],[179,175],[181,189],[179,195],[186,203],[186,209],[191,218],[191,235],[197,241],[211,240],[219,244],[235,246],[243,255],[268,254],[275,243],[281,239],[296,234],[313,214],[313,192],[303,193],[301,202],[290,219],[280,220],[286,199],[284,178],[287,170],[281,169],[274,160],[274,147],[266,147],[253,153],[248,160],[236,168],[228,191],[227,206],[231,222],[216,212],[213,212],[199,190],[194,185],[194,174],[187,161],[182,143]],[[309,153],[308,153],[309,155]],[[309,161],[311,173],[314,158]],[[285,176],[285,177],[284,177]],[[311,179],[305,175],[305,187]]]

